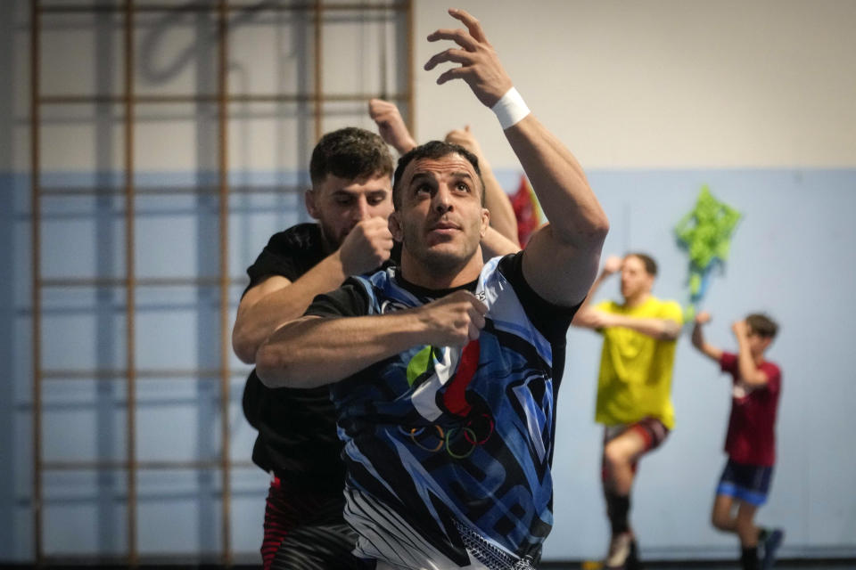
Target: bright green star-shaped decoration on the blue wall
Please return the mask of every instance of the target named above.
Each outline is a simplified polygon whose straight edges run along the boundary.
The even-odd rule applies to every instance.
[[[717,262],[725,263],[731,247],[731,234],[741,214],[728,204],[714,198],[705,184],[695,201],[695,208],[687,212],[675,226],[675,235],[689,255],[689,306],[687,321],[695,317],[695,304],[704,297],[707,278]]]

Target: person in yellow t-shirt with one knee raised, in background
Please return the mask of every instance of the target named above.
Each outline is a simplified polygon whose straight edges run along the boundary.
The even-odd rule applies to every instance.
[[[619,271],[623,302],[588,305],[600,284]],[[630,489],[639,458],[663,444],[675,423],[671,371],[681,310],[677,302],[651,294],[656,274],[657,265],[646,254],[610,256],[573,320],[604,336],[595,420],[605,427],[603,483],[612,527],[607,569],[639,567]]]

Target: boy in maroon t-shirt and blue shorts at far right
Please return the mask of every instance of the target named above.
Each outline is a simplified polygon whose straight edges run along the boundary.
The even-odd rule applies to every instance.
[[[776,461],[776,411],[782,373],[776,364],[764,360],[764,352],[778,325],[763,314],[750,314],[745,321],[735,322],[731,330],[737,338],[737,354],[733,354],[704,341],[702,325],[710,320],[706,312],[696,315],[693,346],[718,362],[733,379],[725,440],[728,463],[716,489],[712,524],[720,531],[737,534],[744,570],[766,570],[773,566],[784,536],[781,529],[770,531],[754,523],[755,512],[767,501]],[[732,515],[735,506],[737,516]],[[764,550],[761,559],[759,544]]]

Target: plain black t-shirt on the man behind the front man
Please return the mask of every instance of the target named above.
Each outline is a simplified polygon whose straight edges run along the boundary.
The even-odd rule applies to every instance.
[[[325,258],[317,224],[298,224],[276,233],[247,269],[251,287],[272,275],[296,281]],[[244,291],[246,293],[246,291]],[[243,414],[259,436],[252,460],[285,485],[341,493],[345,470],[336,419],[327,387],[265,387],[255,369],[243,390]]]

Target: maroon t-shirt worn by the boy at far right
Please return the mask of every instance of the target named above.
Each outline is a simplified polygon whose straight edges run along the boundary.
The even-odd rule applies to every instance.
[[[767,375],[767,384],[751,387],[740,378],[737,354],[723,352],[720,367],[733,380],[725,452],[738,463],[772,465],[776,462],[776,411],[782,372],[776,364],[762,362],[758,368]]]

